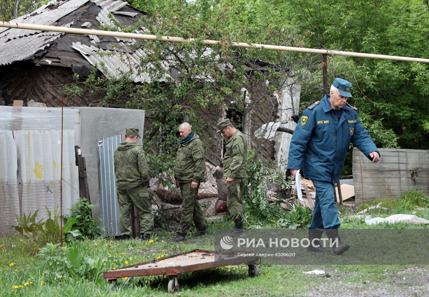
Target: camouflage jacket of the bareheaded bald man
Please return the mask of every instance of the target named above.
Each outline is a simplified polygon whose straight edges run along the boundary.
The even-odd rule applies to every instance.
[[[199,136],[194,134],[190,141],[180,144],[174,166],[174,178],[178,182],[199,182],[205,175],[204,148]]]

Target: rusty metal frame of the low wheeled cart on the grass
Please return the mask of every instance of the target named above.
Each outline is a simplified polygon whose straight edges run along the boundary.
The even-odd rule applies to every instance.
[[[121,277],[132,277],[132,276],[157,276],[157,275],[166,275],[166,276],[177,276],[180,273],[187,273],[192,271],[198,271],[208,268],[216,268],[221,266],[227,266],[227,265],[238,265],[242,263],[255,263],[257,260],[259,260],[258,256],[253,257],[240,257],[235,259],[226,259],[226,260],[217,260],[210,263],[195,263],[190,266],[172,266],[172,267],[160,267],[160,268],[142,268],[142,269],[133,269],[133,270],[124,270],[126,268],[136,267],[149,263],[157,263],[159,261],[163,261],[166,259],[171,259],[174,257],[180,257],[186,254],[190,253],[207,253],[207,254],[217,254],[215,251],[204,251],[204,250],[192,250],[187,251],[180,254],[175,254],[169,257],[163,257],[162,259],[156,259],[156,260],[150,260],[146,262],[142,262],[139,264],[133,264],[130,266],[124,266],[116,270],[109,270],[103,272],[104,279],[107,280],[116,280]]]

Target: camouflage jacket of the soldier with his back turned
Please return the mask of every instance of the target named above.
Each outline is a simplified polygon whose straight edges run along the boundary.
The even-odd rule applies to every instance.
[[[113,153],[116,189],[129,190],[149,186],[149,166],[143,148],[133,141],[122,141]]]

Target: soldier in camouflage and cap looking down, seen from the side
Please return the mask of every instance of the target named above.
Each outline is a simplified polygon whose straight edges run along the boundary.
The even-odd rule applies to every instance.
[[[243,229],[243,194],[246,187],[247,140],[242,132],[237,130],[230,119],[218,123],[218,131],[227,140],[224,155],[224,177],[227,184],[227,208],[235,223],[230,236],[239,236]]]

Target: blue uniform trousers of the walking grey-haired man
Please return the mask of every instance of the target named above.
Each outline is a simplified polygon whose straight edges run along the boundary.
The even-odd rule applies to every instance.
[[[341,225],[335,204],[333,184],[328,181],[311,180],[316,188],[313,219],[308,229],[338,229]]]

